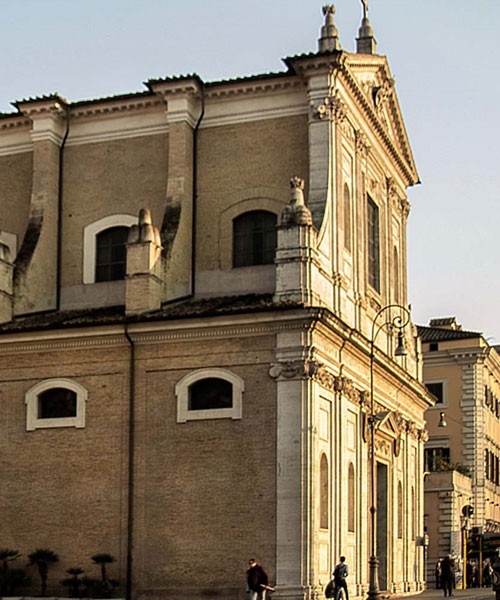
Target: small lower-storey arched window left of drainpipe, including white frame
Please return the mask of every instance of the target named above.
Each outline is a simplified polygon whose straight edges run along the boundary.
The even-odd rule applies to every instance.
[[[87,390],[70,379],[49,379],[26,393],[26,429],[84,427]]]

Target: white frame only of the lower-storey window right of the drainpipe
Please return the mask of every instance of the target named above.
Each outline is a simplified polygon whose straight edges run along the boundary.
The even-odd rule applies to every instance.
[[[233,405],[231,408],[208,408],[203,410],[189,410],[189,388],[193,383],[202,379],[224,379],[233,386]],[[185,375],[175,386],[177,397],[177,423],[198,421],[205,419],[241,419],[243,392],[245,384],[243,379],[227,369],[207,368],[197,369]]]

